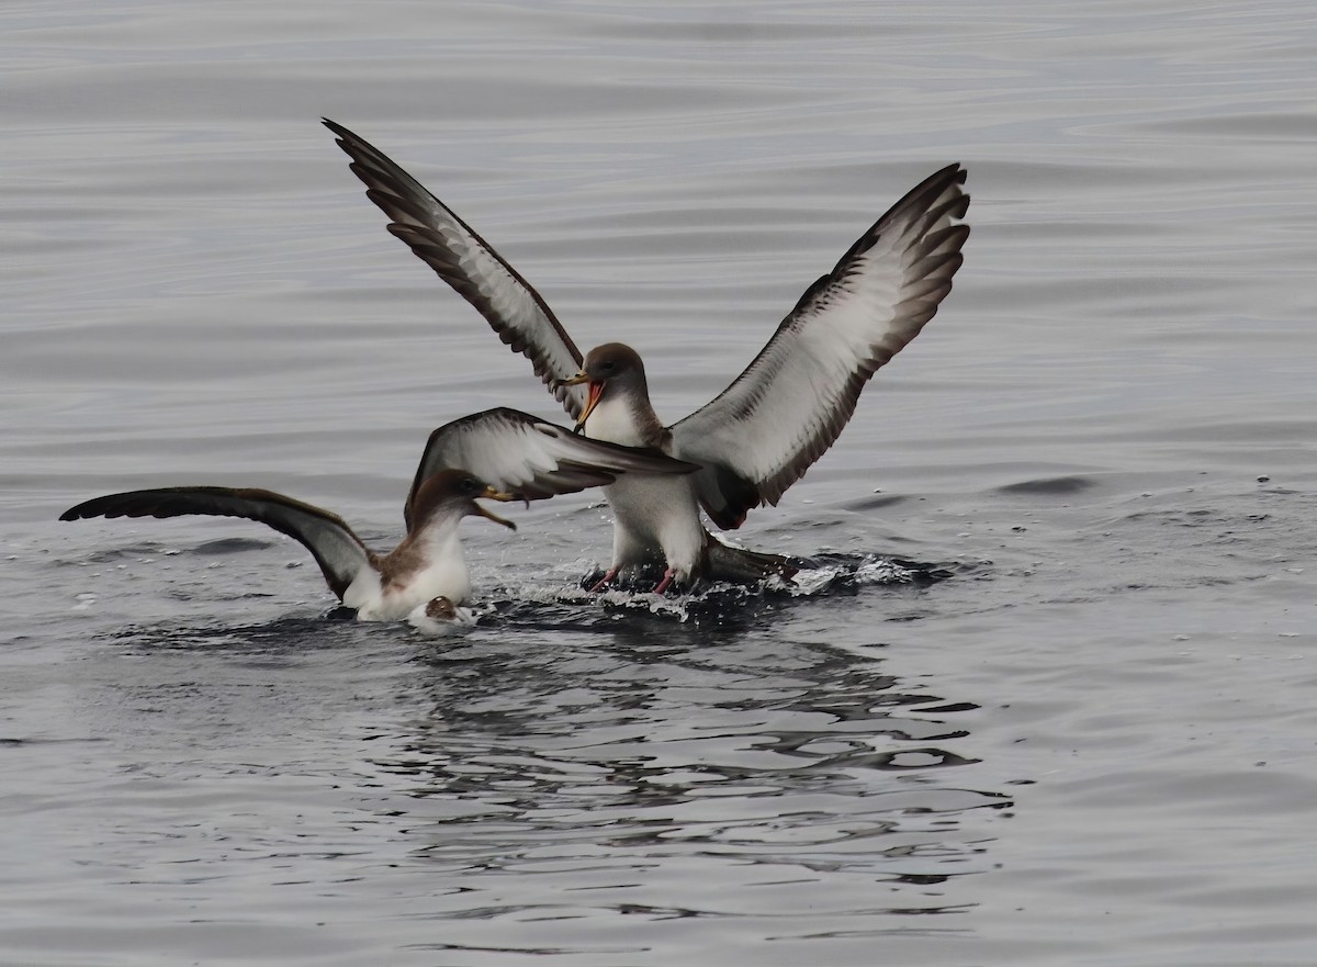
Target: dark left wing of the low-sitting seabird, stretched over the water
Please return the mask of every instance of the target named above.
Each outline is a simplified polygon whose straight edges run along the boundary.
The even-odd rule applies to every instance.
[[[259,520],[306,547],[342,599],[348,585],[373,555],[336,514],[270,490],[234,487],[159,487],[96,497],[59,515],[61,520],[105,516],[241,516]]]

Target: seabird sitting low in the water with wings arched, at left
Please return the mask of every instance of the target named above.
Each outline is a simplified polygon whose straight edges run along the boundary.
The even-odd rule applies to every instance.
[[[473,469],[468,469],[473,468]],[[387,555],[370,551],[337,514],[270,490],[182,486],[109,494],[61,520],[187,514],[259,520],[316,559],[329,589],[358,621],[461,619],[471,590],[457,526],[478,514],[516,530],[477,503],[536,501],[614,482],[620,474],[687,474],[697,468],[657,451],[587,440],[516,410],[489,410],[431,433],[407,495],[407,536]],[[414,622],[414,623],[415,623]]]

